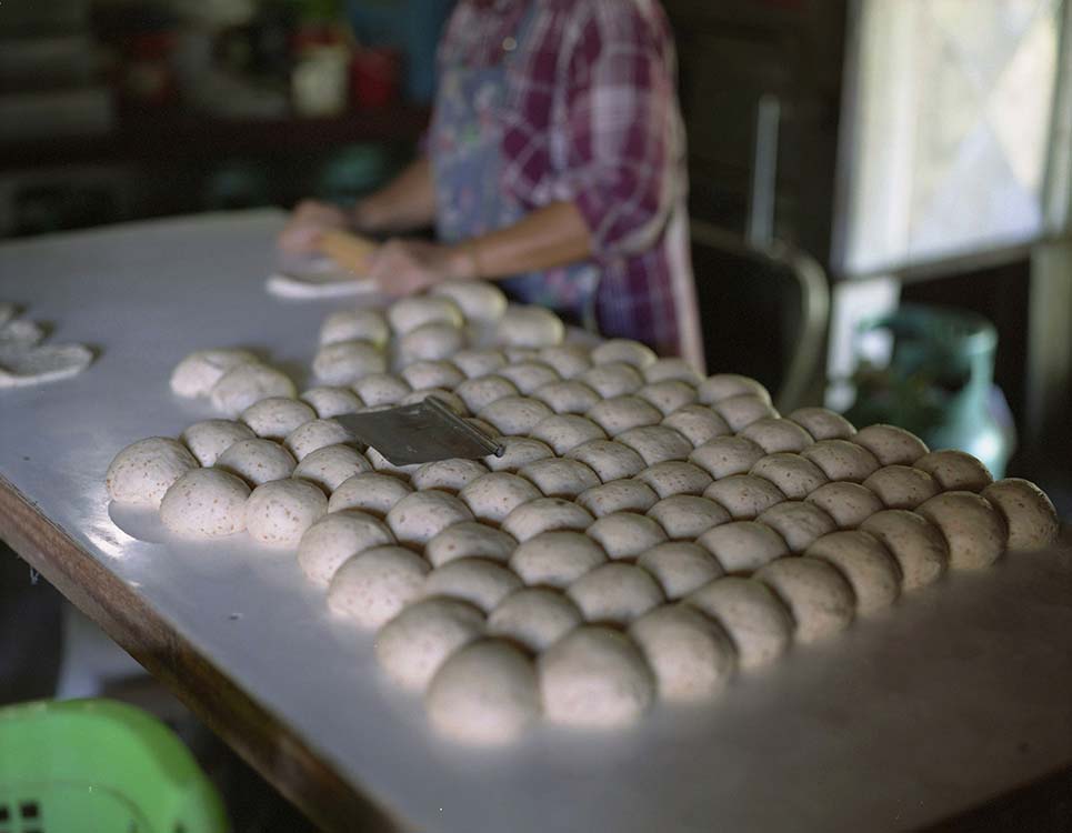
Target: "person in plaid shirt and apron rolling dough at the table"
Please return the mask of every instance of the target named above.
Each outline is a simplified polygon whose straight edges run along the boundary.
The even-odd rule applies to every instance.
[[[368,272],[392,294],[497,280],[605,337],[701,355],[688,251],[677,58],[658,0],[460,0],[438,52],[421,155],[351,212],[302,202],[318,233],[399,234]]]

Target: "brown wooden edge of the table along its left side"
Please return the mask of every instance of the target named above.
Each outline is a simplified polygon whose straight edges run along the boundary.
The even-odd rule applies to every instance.
[[[405,830],[0,476],[0,539],[325,831]]]

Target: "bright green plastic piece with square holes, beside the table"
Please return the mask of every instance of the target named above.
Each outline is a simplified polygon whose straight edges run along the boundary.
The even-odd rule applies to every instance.
[[[0,833],[224,833],[223,804],[183,743],[111,700],[0,709]]]

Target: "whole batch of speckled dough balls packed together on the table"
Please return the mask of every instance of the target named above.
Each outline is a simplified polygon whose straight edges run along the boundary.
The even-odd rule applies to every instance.
[[[330,314],[300,395],[240,350],[171,379],[220,415],[123,449],[111,500],[169,542],[288,553],[434,731],[509,744],[710,703],[948,571],[1058,533],[974,458],[627,340],[565,343],[487,283]],[[438,397],[504,453],[395,466],[339,414]]]

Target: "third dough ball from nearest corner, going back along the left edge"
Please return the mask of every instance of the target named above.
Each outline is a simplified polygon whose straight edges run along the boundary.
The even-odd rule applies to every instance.
[[[328,586],[328,609],[362,628],[379,628],[421,596],[424,559],[404,546],[375,546],[340,566]]]

